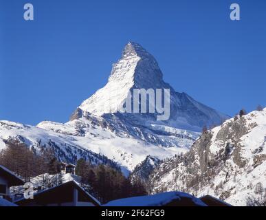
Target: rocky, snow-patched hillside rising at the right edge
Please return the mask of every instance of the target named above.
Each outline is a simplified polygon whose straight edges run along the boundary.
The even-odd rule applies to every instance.
[[[266,196],[265,179],[266,109],[206,131],[188,153],[159,164],[149,183],[152,192],[181,190],[246,206]]]

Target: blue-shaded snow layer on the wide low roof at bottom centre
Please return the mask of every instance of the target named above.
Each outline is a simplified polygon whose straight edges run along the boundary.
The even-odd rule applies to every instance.
[[[162,192],[155,195],[118,199],[110,201],[104,206],[164,206],[171,201],[180,201],[185,197],[191,199],[196,206],[206,206],[203,201],[185,192]]]

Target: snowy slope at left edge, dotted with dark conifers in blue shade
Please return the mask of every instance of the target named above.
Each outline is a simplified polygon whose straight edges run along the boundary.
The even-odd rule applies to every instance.
[[[0,150],[8,142],[18,140],[40,153],[43,148],[54,149],[60,161],[75,163],[79,158],[85,158],[91,164],[109,164],[120,168],[118,164],[104,155],[93,153],[75,142],[74,137],[46,131],[35,126],[19,124],[16,122],[0,121]]]

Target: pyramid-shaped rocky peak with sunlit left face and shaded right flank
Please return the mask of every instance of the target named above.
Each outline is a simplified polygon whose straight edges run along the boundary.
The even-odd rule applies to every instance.
[[[133,89],[170,89],[170,118],[167,124],[178,129],[201,131],[206,125],[221,124],[228,118],[185,93],[176,92],[163,80],[163,74],[155,58],[141,45],[129,42],[122,51],[120,60],[113,64],[107,85],[96,91],[93,96],[82,102],[79,110],[84,113],[101,116],[106,113],[118,113]],[[80,111],[80,112],[81,112]],[[82,113],[80,113],[80,116]],[[130,118],[140,116],[153,122],[155,114],[133,114]],[[74,115],[74,118],[77,115]]]

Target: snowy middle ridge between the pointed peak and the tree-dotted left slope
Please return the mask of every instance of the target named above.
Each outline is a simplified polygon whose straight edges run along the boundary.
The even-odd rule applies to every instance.
[[[189,146],[199,135],[178,129],[169,131],[168,135],[160,134],[159,131],[157,131],[158,134],[150,130],[144,132],[116,120],[104,120],[104,118],[92,116],[73,120],[66,124],[42,122],[38,124],[38,127],[57,133],[67,131],[67,135],[74,136],[73,141],[76,144],[113,159],[128,174],[148,155],[164,159],[188,151]],[[77,133],[77,131],[79,132]],[[151,143],[147,140],[150,140]]]

